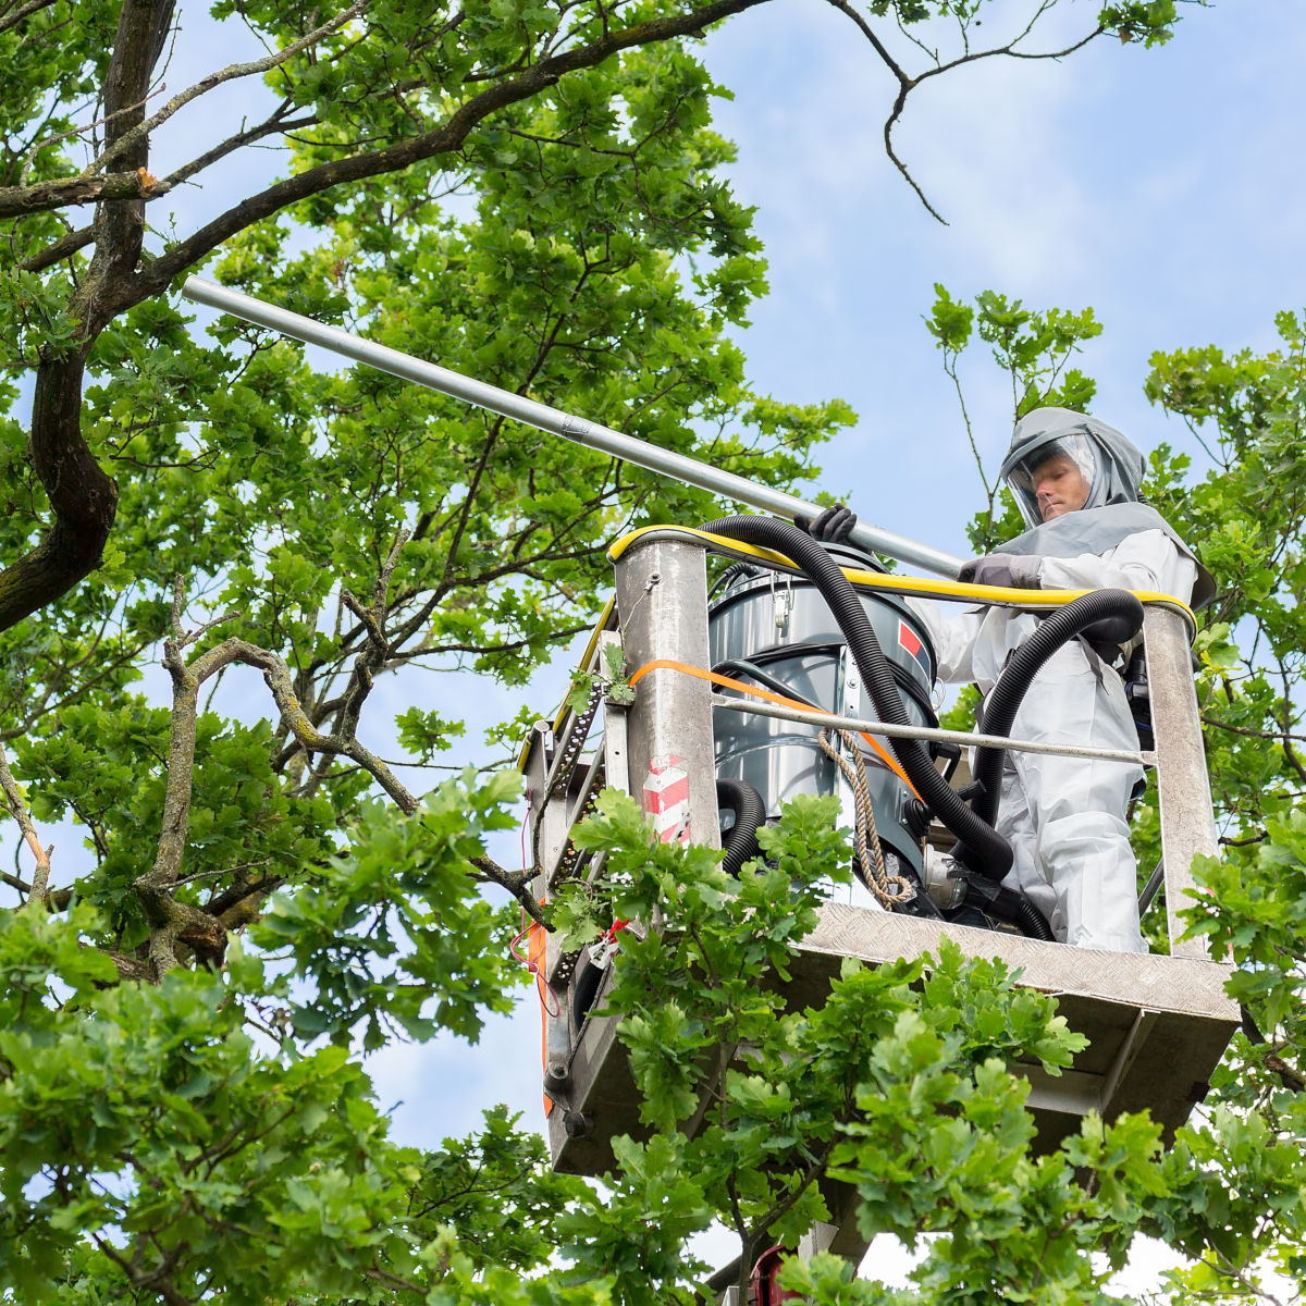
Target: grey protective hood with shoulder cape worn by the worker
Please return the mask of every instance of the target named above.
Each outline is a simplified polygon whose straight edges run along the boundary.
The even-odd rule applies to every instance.
[[[1033,525],[1032,530],[999,545],[994,552],[1075,558],[1079,554],[1102,554],[1107,549],[1114,549],[1127,535],[1144,530],[1162,530],[1198,568],[1198,580],[1192,588],[1192,607],[1200,609],[1209,603],[1215,597],[1215,580],[1174,528],[1155,508],[1140,502],[1139,487],[1147,460],[1115,427],[1071,409],[1034,409],[1016,423],[1011,448],[1002,464],[1003,479],[1012,485],[1012,477],[1019,469],[1030,468],[1038,461],[1040,449],[1047,448],[1051,452],[1063,441],[1074,440],[1087,440],[1097,460],[1084,507]],[[1032,509],[1028,492],[1023,492],[1015,485],[1012,488],[1025,520],[1029,521]]]

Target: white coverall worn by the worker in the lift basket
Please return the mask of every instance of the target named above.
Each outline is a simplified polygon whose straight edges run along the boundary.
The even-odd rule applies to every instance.
[[[1027,423],[1038,421],[1051,431],[1074,421],[1081,432],[1110,432],[1138,452],[1111,427],[1066,409],[1040,409],[1023,418],[1013,449],[1023,427],[1028,449]],[[1139,475],[1141,464],[1138,454]],[[1107,481],[1110,471],[1117,481],[1130,479],[1121,478],[1115,466]],[[1105,494],[1101,486],[1094,488],[1098,503],[1136,504],[1136,479]],[[1076,522],[1084,524],[1087,517]],[[1019,552],[1021,541],[1037,539],[1038,534],[1034,530],[1023,535],[1010,547]],[[1168,529],[1126,534],[1101,552],[1042,556],[1037,567],[1041,589],[1141,589],[1183,601],[1190,598],[1196,576],[1191,554],[1175,543]],[[986,696],[1011,653],[1037,627],[1032,613],[1016,609],[947,615],[929,599],[908,602],[930,629],[939,679],[973,680]],[[1119,674],[1081,640],[1062,645],[1034,677],[1016,712],[1011,738],[1138,748]],[[1140,767],[1119,761],[1016,751],[1006,755],[996,829],[1011,842],[1015,859],[1004,883],[1024,892],[1064,943],[1114,952],[1147,951],[1139,931],[1136,863],[1126,824],[1130,794],[1141,773]]]

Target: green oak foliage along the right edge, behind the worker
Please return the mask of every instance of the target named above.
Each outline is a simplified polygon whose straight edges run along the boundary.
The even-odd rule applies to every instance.
[[[1135,17],[1144,17],[1141,7]],[[980,296],[977,304],[989,332],[982,338],[994,343],[995,360],[1012,377],[1017,414],[1020,396],[1036,393],[1030,380],[1037,389],[1038,377],[1055,374],[1067,346],[1074,347],[1071,337],[1096,333],[1091,315],[1072,320],[1054,312],[1030,325],[1019,304],[1000,296]],[[927,325],[955,383],[956,357],[976,332],[976,316],[939,289]],[[1152,402],[1185,422],[1190,441],[1187,448],[1166,443],[1152,451],[1144,494],[1198,547],[1218,586],[1213,605],[1199,615],[1195,652],[1224,848],[1220,858],[1195,861],[1199,892],[1182,916],[1190,934],[1235,965],[1229,994],[1243,1007],[1245,1033],[1212,1076],[1205,1115],[1178,1132],[1168,1155],[1153,1155],[1140,1123],[1113,1126],[1132,1132],[1113,1144],[1126,1165],[1111,1181],[1110,1208],[1098,1205],[1109,1191],[1105,1178],[1091,1181],[1087,1200],[1064,1190],[1037,1213],[1020,1207],[1021,1228],[1059,1230],[1038,1258],[1038,1299],[1098,1299],[1092,1296],[1098,1280],[1075,1247],[1106,1247],[1114,1263],[1135,1232],[1160,1237],[1190,1258],[1170,1276],[1175,1302],[1254,1299],[1262,1288],[1273,1290],[1264,1282],[1267,1268],[1294,1279],[1306,1263],[1306,824],[1298,810],[1306,772],[1297,704],[1306,648],[1299,492],[1306,488],[1299,452],[1306,334],[1296,313],[1279,313],[1275,321],[1280,341],[1264,354],[1228,354],[1215,346],[1158,353],[1145,383]],[[1068,334],[1058,337],[1055,324],[1071,324]],[[1085,393],[1092,393],[1091,383]],[[1053,401],[1070,400],[1057,394]],[[985,488],[991,505],[987,481]],[[972,539],[985,549],[1017,529],[1015,521],[995,525],[990,509],[973,522]],[[965,724],[968,709],[963,699],[948,720]],[[1155,794],[1135,814],[1134,844],[1141,865],[1160,857]],[[1072,1140],[1066,1156],[1092,1169],[1100,1164],[1094,1157],[1104,1155],[1094,1147],[1085,1152],[1083,1139]],[[1042,1200],[1033,1196],[1041,1187],[1038,1178],[1021,1173],[1011,1191],[1024,1203]],[[946,1246],[955,1245],[956,1238]],[[1006,1255],[1007,1245],[990,1234],[983,1266],[978,1252],[969,1262],[965,1254],[931,1250],[931,1262],[955,1259],[956,1277],[922,1267],[917,1279],[929,1284],[931,1301],[991,1299],[985,1293],[993,1288],[981,1286],[974,1298],[966,1294],[983,1285],[983,1267],[1002,1267]],[[1016,1246],[1015,1259],[994,1284],[1003,1282],[1023,1255]],[[1003,1293],[1010,1298],[1010,1288]]]

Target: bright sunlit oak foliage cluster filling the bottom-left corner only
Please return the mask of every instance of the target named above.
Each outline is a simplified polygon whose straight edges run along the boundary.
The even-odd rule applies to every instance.
[[[404,1157],[346,1050],[253,1057],[243,1006],[212,973],[95,987],[112,964],[80,946],[94,925],[89,909],[0,921],[0,1285],[94,1299],[115,1258],[140,1256],[179,1293],[218,1281],[253,1303],[287,1276],[338,1293],[370,1264],[411,1267],[390,1220]],[[73,1256],[86,1239],[98,1258]]]

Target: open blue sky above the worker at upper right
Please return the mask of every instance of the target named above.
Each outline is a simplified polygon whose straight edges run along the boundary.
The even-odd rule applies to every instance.
[[[1000,5],[998,12],[1010,12]],[[1081,30],[1092,5],[1071,5]],[[948,218],[929,218],[885,162],[891,94],[871,50],[819,0],[727,24],[708,63],[735,90],[718,124],[757,206],[769,298],[742,336],[751,374],[784,398],[848,398],[858,426],[821,485],[901,534],[965,552],[978,479],[939,353],[921,323],[932,283],[1029,307],[1093,306],[1084,366],[1094,409],[1143,448],[1186,432],[1141,393],[1153,350],[1264,347],[1302,303],[1303,110],[1290,94],[1298,5],[1185,8],[1161,50],[1100,40],[1062,63],[993,60],[922,86],[897,141]],[[977,432],[996,456],[1010,394],[970,370]]]

